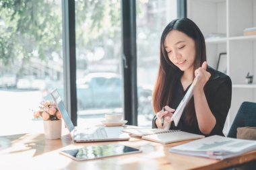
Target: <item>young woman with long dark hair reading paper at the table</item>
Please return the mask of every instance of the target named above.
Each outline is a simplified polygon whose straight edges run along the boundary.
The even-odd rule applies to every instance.
[[[189,89],[195,75],[199,79],[177,126],[172,114]],[[222,135],[230,109],[230,77],[207,66],[203,34],[191,19],[174,19],[166,26],[160,41],[160,65],[153,91],[152,127],[182,130],[211,136]],[[162,107],[165,111],[162,112]],[[161,124],[161,118],[164,124]]]

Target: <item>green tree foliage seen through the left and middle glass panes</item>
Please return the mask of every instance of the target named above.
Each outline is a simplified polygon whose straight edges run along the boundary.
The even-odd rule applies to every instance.
[[[121,31],[117,32],[121,30],[120,1],[75,1],[75,22],[78,59],[79,55],[94,52],[97,46],[110,47],[109,53],[114,53],[111,57],[117,57],[115,40],[121,37]],[[1,0],[0,35],[1,72],[11,71],[11,66],[15,66],[15,73],[22,75],[24,67],[34,58],[40,64],[51,62],[53,52],[62,58],[61,1]],[[104,43],[106,40],[110,40],[108,44]]]

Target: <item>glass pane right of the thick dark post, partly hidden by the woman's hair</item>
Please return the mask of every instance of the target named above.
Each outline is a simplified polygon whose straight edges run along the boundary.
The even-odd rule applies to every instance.
[[[177,17],[177,0],[137,0],[138,125],[152,126],[152,91],[159,65],[160,37]]]

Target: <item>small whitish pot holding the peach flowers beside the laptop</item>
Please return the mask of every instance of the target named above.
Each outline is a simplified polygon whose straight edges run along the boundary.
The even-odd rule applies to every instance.
[[[61,138],[61,120],[44,120],[43,122],[46,139]]]

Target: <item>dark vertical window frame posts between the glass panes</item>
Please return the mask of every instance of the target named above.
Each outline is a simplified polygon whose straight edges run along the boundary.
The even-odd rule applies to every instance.
[[[137,125],[137,47],[136,0],[121,0],[122,9],[122,71],[124,114],[128,124]],[[65,105],[77,126],[75,0],[62,0],[63,63]],[[177,1],[177,16],[187,17],[187,0]]]

